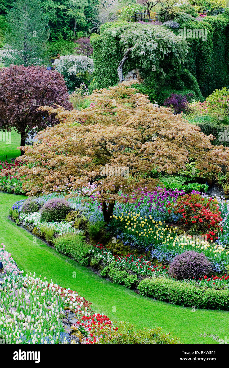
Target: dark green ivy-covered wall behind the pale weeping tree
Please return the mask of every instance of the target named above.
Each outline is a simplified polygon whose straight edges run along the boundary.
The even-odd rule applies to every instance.
[[[180,74],[170,75],[164,85],[156,85],[154,72],[139,68],[137,60],[129,59],[123,68],[123,75],[128,71],[139,68],[140,75],[145,78],[140,91],[145,91],[151,100],[154,97],[162,105],[171,93],[193,93],[194,97],[202,100],[216,88],[221,89],[229,84],[229,12],[222,16],[205,17],[203,21],[194,18],[182,22],[178,19],[179,29],[206,29],[207,40],[202,38],[186,39],[189,43],[189,54],[186,64]],[[91,37],[94,47],[94,78],[90,92],[95,88],[107,88],[119,82],[117,67],[123,57],[119,38],[115,37],[115,29],[130,27],[130,22],[110,22],[101,26],[101,35]],[[107,32],[109,30],[109,32]],[[169,29],[178,35],[178,29]],[[168,80],[169,79],[169,80]],[[154,93],[154,91],[156,91]],[[202,95],[201,95],[202,94]]]

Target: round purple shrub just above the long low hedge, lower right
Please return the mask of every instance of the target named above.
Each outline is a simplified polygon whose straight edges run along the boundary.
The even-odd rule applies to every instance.
[[[177,255],[169,267],[169,276],[177,280],[195,280],[212,273],[212,265],[207,257],[198,252],[186,251]]]

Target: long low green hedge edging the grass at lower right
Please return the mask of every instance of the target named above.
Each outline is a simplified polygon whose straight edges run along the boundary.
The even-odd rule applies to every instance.
[[[145,279],[138,285],[140,294],[184,307],[229,310],[229,290],[197,288],[167,278]]]

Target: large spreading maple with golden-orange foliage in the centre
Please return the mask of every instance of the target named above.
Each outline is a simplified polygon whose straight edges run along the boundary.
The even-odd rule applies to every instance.
[[[170,108],[155,107],[148,96],[123,82],[109,89],[95,90],[91,105],[82,110],[65,110],[59,106],[39,107],[56,113],[60,123],[39,132],[38,142],[25,147],[20,158],[25,163],[19,174],[28,195],[82,191],[96,181],[96,191],[107,210],[119,196],[135,188],[152,190],[156,181],[153,169],[168,174],[195,167],[205,174],[229,167],[229,148],[213,146],[196,125]],[[101,167],[128,167],[129,177],[103,176]],[[105,212],[104,212],[105,213]]]

